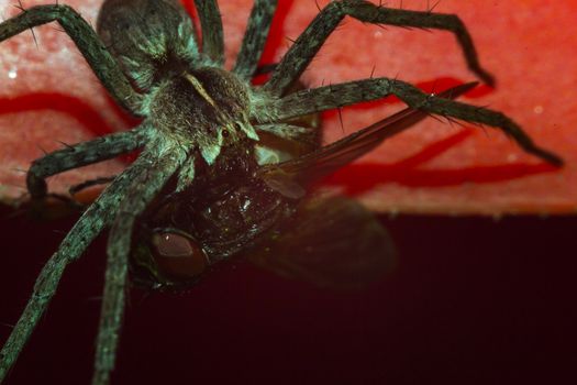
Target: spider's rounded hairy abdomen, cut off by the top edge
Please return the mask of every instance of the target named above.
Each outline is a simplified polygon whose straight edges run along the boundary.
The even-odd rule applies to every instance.
[[[201,61],[191,20],[175,0],[107,0],[97,31],[143,91]]]

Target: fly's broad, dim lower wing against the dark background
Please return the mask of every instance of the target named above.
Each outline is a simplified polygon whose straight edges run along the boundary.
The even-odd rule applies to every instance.
[[[396,261],[391,239],[378,220],[342,197],[306,198],[290,222],[246,256],[281,276],[336,289],[363,288]]]

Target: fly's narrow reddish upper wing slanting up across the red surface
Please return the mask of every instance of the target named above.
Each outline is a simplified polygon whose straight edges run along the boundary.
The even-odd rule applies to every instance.
[[[454,99],[476,85],[477,82],[465,84],[436,96]],[[408,108],[304,156],[267,165],[258,173],[270,187],[280,193],[292,191],[295,185],[309,186],[317,183],[426,117],[426,112]]]

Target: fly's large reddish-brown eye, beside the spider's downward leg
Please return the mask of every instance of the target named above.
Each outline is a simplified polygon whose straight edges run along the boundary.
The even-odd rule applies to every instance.
[[[195,240],[173,232],[153,234],[153,256],[158,268],[167,275],[192,278],[204,271],[208,257]]]

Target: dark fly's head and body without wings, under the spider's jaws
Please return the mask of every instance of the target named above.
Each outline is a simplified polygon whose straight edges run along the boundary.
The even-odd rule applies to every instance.
[[[176,292],[191,287],[221,262],[266,243],[292,216],[297,199],[256,178],[248,156],[243,161],[237,154],[240,167],[221,167],[230,164],[226,156],[217,162],[219,173],[200,175],[189,190],[167,196],[142,217],[131,256],[135,284]]]

